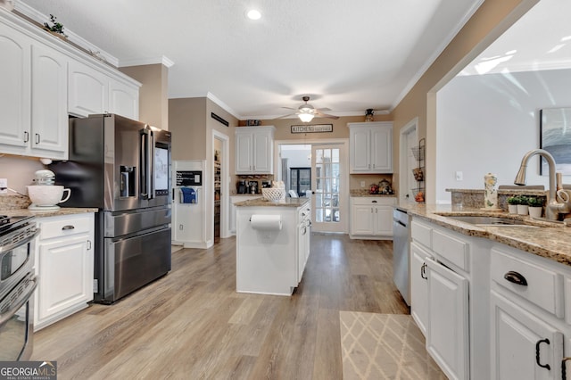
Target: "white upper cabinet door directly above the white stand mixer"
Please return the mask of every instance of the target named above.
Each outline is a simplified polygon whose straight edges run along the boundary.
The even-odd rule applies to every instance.
[[[67,76],[67,59],[62,54],[39,43],[32,46],[33,155],[68,157]]]

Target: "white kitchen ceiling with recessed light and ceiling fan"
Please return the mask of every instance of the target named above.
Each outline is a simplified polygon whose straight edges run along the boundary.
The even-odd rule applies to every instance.
[[[111,54],[120,66],[173,62],[170,98],[208,95],[244,120],[289,113],[282,107],[297,108],[302,95],[338,116],[392,109],[482,1],[20,3],[54,14],[72,36]],[[541,3],[568,7],[571,2]],[[245,18],[251,7],[261,11],[260,21]],[[553,28],[547,24],[544,21],[541,30]],[[493,54],[507,51],[497,49],[501,53]]]

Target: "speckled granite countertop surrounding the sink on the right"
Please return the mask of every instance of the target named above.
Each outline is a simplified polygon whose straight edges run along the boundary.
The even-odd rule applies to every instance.
[[[484,237],[571,266],[571,227],[549,221],[532,220],[529,216],[509,214],[507,211],[483,211],[466,207],[456,210],[450,204],[426,205],[401,202],[395,207],[407,211],[412,216],[426,219],[460,234]],[[446,215],[462,214],[518,219],[541,228],[475,226],[446,218]]]

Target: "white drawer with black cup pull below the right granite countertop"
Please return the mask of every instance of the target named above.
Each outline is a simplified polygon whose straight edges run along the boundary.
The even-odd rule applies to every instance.
[[[492,248],[492,281],[534,303],[556,317],[563,317],[563,276],[550,268],[536,265],[525,258],[514,257],[509,252]],[[505,277],[525,278],[527,285],[517,285]],[[518,274],[518,275],[517,275]]]

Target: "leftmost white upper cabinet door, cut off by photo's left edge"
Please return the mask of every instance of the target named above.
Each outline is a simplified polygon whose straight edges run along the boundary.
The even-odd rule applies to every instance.
[[[20,148],[29,145],[30,40],[0,24],[0,144]],[[9,147],[1,153],[17,153]]]

